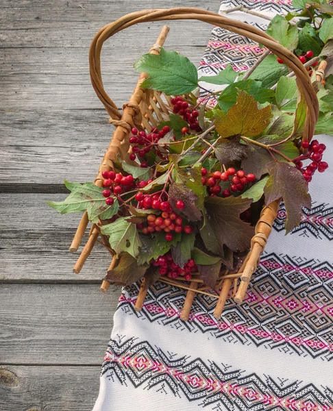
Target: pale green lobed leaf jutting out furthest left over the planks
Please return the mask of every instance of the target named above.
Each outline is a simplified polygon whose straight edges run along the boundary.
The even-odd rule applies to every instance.
[[[119,203],[114,199],[113,206],[106,205],[106,199],[102,192],[104,188],[97,187],[93,183],[69,183],[65,182],[66,187],[71,190],[71,194],[64,201],[47,201],[47,204],[60,212],[84,212],[87,210],[88,219],[92,223],[98,223],[99,219],[111,219],[119,210]]]

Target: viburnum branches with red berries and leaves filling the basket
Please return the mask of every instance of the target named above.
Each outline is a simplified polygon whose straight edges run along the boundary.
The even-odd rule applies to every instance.
[[[305,8],[314,18],[322,14],[314,5]],[[333,129],[332,76],[318,82],[314,73],[332,49],[331,21],[309,27],[277,16],[267,29],[310,68],[319,99],[318,134]],[[310,39],[317,42],[313,49]],[[301,207],[310,208],[312,175],[328,168],[325,145],[302,141],[306,99],[293,73],[271,53],[245,75],[228,65],[219,75],[198,78],[184,55],[164,49],[143,55],[134,66],[147,73],[141,87],[156,97],[151,117],[128,130],[130,161],[119,153],[113,169],[101,173],[101,187],[66,182],[69,196],[49,205],[63,214],[85,212],[108,240],[117,261],[108,282],[132,284],[145,277],[149,286],[164,278],[205,284],[196,289],[209,294],[221,279],[240,276],[262,207],[283,199],[286,231],[299,224]],[[212,92],[214,107],[195,97],[196,90],[207,92],[202,82],[223,86]]]

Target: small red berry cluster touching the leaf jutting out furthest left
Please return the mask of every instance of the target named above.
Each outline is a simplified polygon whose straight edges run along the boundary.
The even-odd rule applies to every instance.
[[[102,195],[106,197],[108,206],[112,206],[114,198],[111,197],[112,192],[115,195],[121,195],[122,192],[130,191],[135,187],[133,175],[122,175],[121,173],[114,173],[114,171],[103,171],[103,190]]]

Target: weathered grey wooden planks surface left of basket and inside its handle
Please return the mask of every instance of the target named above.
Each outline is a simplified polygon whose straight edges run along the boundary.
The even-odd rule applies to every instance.
[[[80,216],[45,201],[64,197],[64,179],[93,180],[112,136],[90,86],[95,32],[138,8],[184,5],[217,10],[219,1],[1,1],[0,411],[93,408],[120,290],[99,292],[109,262],[101,246],[72,273]],[[197,64],[210,27],[169,25],[166,47]],[[103,47],[104,83],[120,108],[138,77],[133,63],[161,26],[131,27]]]

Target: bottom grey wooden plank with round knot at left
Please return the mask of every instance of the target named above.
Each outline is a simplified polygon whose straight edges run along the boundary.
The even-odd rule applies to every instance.
[[[0,366],[0,411],[90,411],[100,371],[100,366],[84,365]]]

